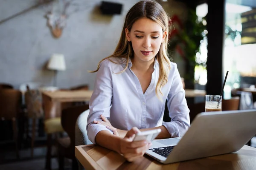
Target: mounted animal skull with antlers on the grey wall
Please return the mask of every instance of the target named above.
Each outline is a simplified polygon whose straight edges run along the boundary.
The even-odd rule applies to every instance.
[[[61,6],[62,6],[61,12],[58,12],[58,11],[54,12],[53,11],[54,6],[52,3],[51,10],[48,12],[46,16],[47,25],[51,29],[52,35],[55,38],[59,38],[61,36],[62,30],[66,26],[66,19],[67,19],[66,10],[70,5],[70,1],[60,0],[59,3],[61,3]]]

